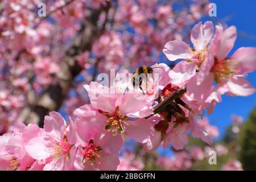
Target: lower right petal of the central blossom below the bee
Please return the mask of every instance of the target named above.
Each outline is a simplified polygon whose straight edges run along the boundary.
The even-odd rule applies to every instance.
[[[126,121],[126,133],[131,139],[139,143],[146,143],[148,134],[150,133],[151,123],[147,119],[135,119],[134,121]]]

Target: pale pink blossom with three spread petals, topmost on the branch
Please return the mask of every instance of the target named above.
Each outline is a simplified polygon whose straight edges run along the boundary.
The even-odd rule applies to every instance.
[[[187,43],[181,40],[166,43],[163,52],[169,60],[185,60],[178,63],[170,72],[174,84],[186,83],[196,74],[196,70],[201,70],[200,66],[208,59],[208,45],[212,36],[212,22],[205,22],[204,24],[200,22],[191,31],[191,42],[194,48],[189,47]]]

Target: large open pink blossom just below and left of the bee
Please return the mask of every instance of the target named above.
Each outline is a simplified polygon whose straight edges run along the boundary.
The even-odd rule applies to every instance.
[[[110,135],[126,132],[137,142],[146,142],[147,134],[150,132],[150,123],[146,119],[145,121],[127,119],[129,117],[143,118],[152,114],[150,109],[152,101],[148,102],[147,96],[141,93],[111,93],[110,88],[97,82],[90,82],[90,85],[85,85],[85,89],[89,94],[91,108],[104,115],[105,119],[102,119],[101,123]]]

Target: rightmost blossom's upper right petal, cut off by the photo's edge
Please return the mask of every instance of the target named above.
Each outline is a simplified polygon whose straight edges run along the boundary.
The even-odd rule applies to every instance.
[[[241,47],[232,55],[236,69],[239,74],[253,72],[256,69],[256,48]]]

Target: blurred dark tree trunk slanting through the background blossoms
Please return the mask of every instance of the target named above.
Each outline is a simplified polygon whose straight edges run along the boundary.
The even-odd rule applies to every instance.
[[[57,84],[50,85],[40,96],[36,98],[33,93],[28,94],[28,103],[30,108],[23,110],[22,117],[26,121],[34,121],[43,127],[44,116],[49,111],[57,111],[63,105],[63,101],[67,97],[68,90],[74,78],[79,75],[82,68],[77,64],[76,56],[84,51],[92,49],[93,41],[100,36],[105,30],[105,24],[98,26],[98,19],[101,13],[106,13],[108,20],[108,11],[110,3],[106,6],[101,6],[97,10],[86,10],[86,17],[81,25],[75,39],[73,39],[72,46],[65,53],[63,61],[60,62],[60,73],[58,73]],[[60,78],[59,78],[60,77]]]

